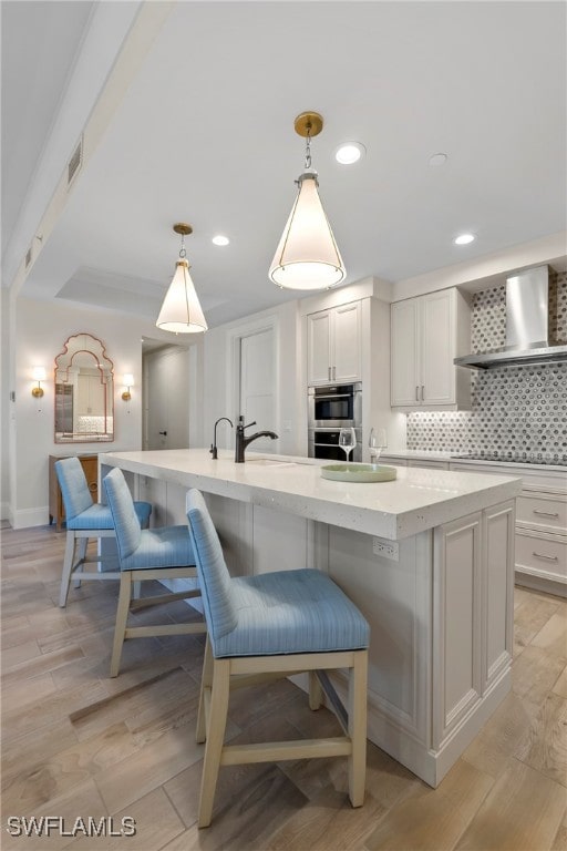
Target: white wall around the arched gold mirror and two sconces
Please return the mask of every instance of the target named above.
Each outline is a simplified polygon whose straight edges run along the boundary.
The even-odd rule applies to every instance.
[[[138,319],[71,307],[66,304],[19,298],[13,335],[13,375],[8,389],[16,391],[10,403],[8,444],[10,490],[8,519],[14,529],[41,525],[49,521],[49,455],[140,449],[142,445],[142,344],[147,322]],[[65,340],[87,331],[99,337],[114,365],[114,441],[111,443],[58,444],[54,442],[53,363]],[[2,335],[2,340],[4,337]],[[4,352],[4,345],[2,344]],[[3,359],[2,359],[3,360]],[[34,399],[32,368],[45,367],[44,396]],[[134,375],[132,400],[122,400],[122,375]],[[7,386],[2,375],[3,397]],[[2,464],[4,466],[4,464]],[[4,475],[4,471],[2,471]]]

